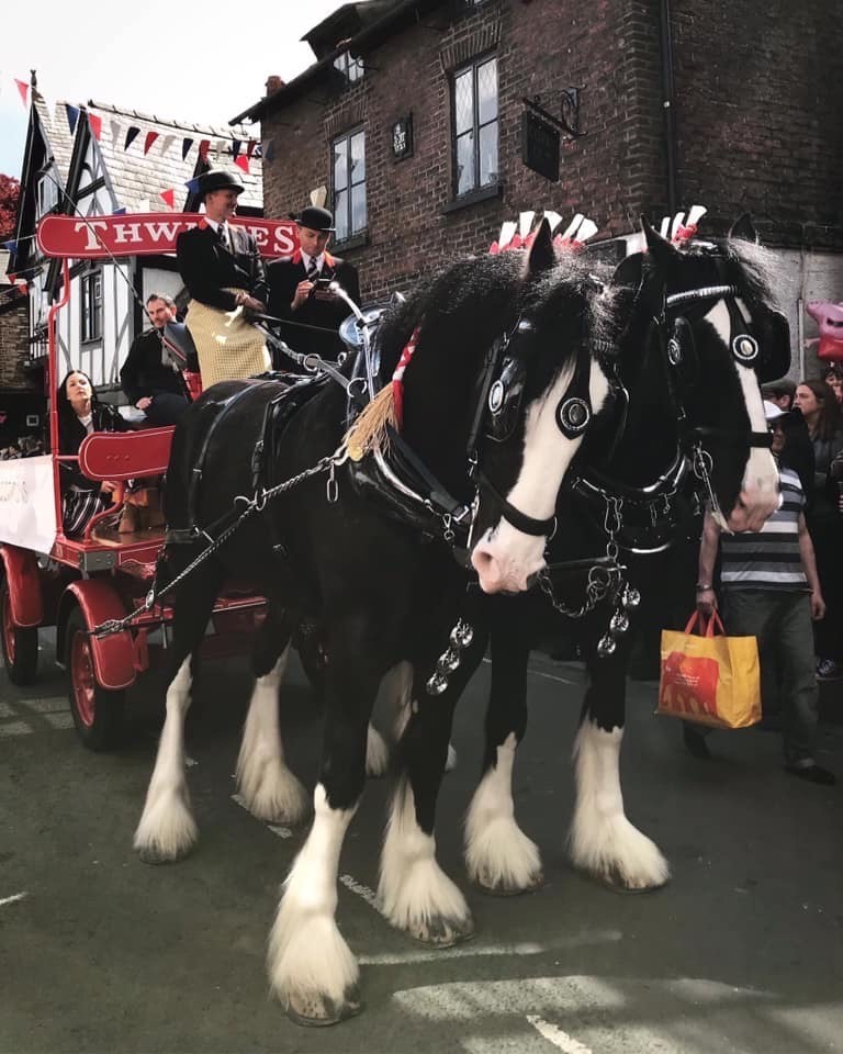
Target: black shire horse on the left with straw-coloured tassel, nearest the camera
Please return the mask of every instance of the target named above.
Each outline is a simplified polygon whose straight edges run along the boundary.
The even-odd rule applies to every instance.
[[[329,663],[315,816],[284,884],[268,958],[272,990],[296,1021],[330,1023],[359,1008],[358,965],[335,921],[336,883],[364,784],[367,724],[381,679],[409,660],[424,694],[436,675],[467,586],[452,553],[460,509],[468,518],[469,509],[483,515],[493,505],[491,520],[499,523],[504,540],[490,573],[499,587],[524,590],[543,567],[557,494],[582,441],[584,422],[567,407],[575,397],[598,412],[608,394],[607,377],[591,355],[600,311],[599,290],[585,269],[573,259],[557,266],[547,223],[529,255],[451,267],[432,283],[422,314],[408,306],[384,327],[384,377],[408,343],[416,347],[404,375],[404,446],[395,438],[391,444],[401,464],[382,456],[359,464],[348,459],[352,444],[344,445],[347,394],[340,385],[315,385],[310,399],[300,391],[302,405],[270,442],[270,482],[323,471],[306,474],[251,516],[179,584],[166,720],[134,841],[145,861],[176,860],[196,839],[184,777],[184,717],[193,653],[224,581],[255,583],[269,602],[237,764],[240,794],[258,816],[293,821],[303,812],[304,793],[283,761],[277,693],[294,627],[315,616],[325,633]],[[501,441],[481,441],[497,427],[487,423],[495,415],[486,407],[495,405],[491,389],[501,380],[493,373],[503,348],[504,366],[519,374],[520,397],[514,413],[497,406],[507,417]],[[278,391],[271,381],[227,382],[184,414],[167,473],[170,574],[205,546],[191,528],[218,531],[212,525],[255,493],[255,451]],[[495,392],[502,391],[499,384]],[[356,423],[356,442],[376,405]],[[393,486],[383,502],[364,486],[375,461]],[[408,478],[420,480],[420,490],[411,494]],[[475,478],[484,481],[479,494]],[[396,516],[393,506],[402,502],[407,513]],[[188,540],[177,545],[178,537]],[[450,735],[450,717],[441,715],[450,709],[440,713],[442,700],[432,702],[419,707],[404,737],[405,808],[389,839],[390,899],[398,907],[390,913],[417,937],[450,943],[472,923],[434,857],[431,807]]]

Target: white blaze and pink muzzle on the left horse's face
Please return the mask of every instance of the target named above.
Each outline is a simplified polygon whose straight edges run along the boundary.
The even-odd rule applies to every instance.
[[[567,439],[557,424],[557,407],[567,392],[574,366],[573,362],[566,366],[553,385],[527,412],[521,469],[506,498],[533,519],[548,519],[553,515],[562,479],[582,442],[582,436]],[[588,393],[595,413],[603,406],[608,392],[605,374],[596,362],[592,362]],[[528,588],[530,575],[544,567],[546,541],[543,535],[527,535],[505,519],[490,528],[471,553],[471,562],[484,592]]]

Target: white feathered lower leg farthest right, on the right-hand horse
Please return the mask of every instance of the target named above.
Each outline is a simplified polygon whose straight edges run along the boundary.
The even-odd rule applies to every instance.
[[[663,885],[667,861],[623,814],[620,741],[623,730],[606,732],[586,718],[574,743],[576,805],[571,823],[571,859],[595,875],[630,889]]]

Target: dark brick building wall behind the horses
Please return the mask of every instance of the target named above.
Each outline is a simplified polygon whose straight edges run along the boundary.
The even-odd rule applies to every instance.
[[[657,222],[699,202],[709,233],[752,213],[799,272],[783,279],[793,315],[800,298],[843,295],[843,55],[827,46],[841,31],[843,9],[830,0],[348,3],[307,34],[317,61],[246,111],[271,143],[265,211],[294,212],[321,187],[337,204],[335,150],[348,153],[347,137],[362,133],[366,220],[337,248],[359,267],[366,298],[485,250],[521,210],[584,212],[609,238],[642,212]],[[460,195],[454,141],[467,119],[456,86],[490,58],[496,164]],[[521,159],[524,114],[538,103],[552,127],[572,87],[584,134],[561,134],[551,181]],[[475,82],[472,101],[480,92]],[[413,149],[396,160],[404,117]],[[477,117],[475,109],[479,143]]]

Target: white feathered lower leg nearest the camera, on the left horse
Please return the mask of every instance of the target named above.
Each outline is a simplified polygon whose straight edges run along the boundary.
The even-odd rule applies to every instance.
[[[355,810],[331,809],[322,784],[314,789],[313,809],[311,833],[284,883],[267,967],[284,1007],[318,1017],[325,1003],[347,1000],[359,969],[335,920],[339,852]]]

